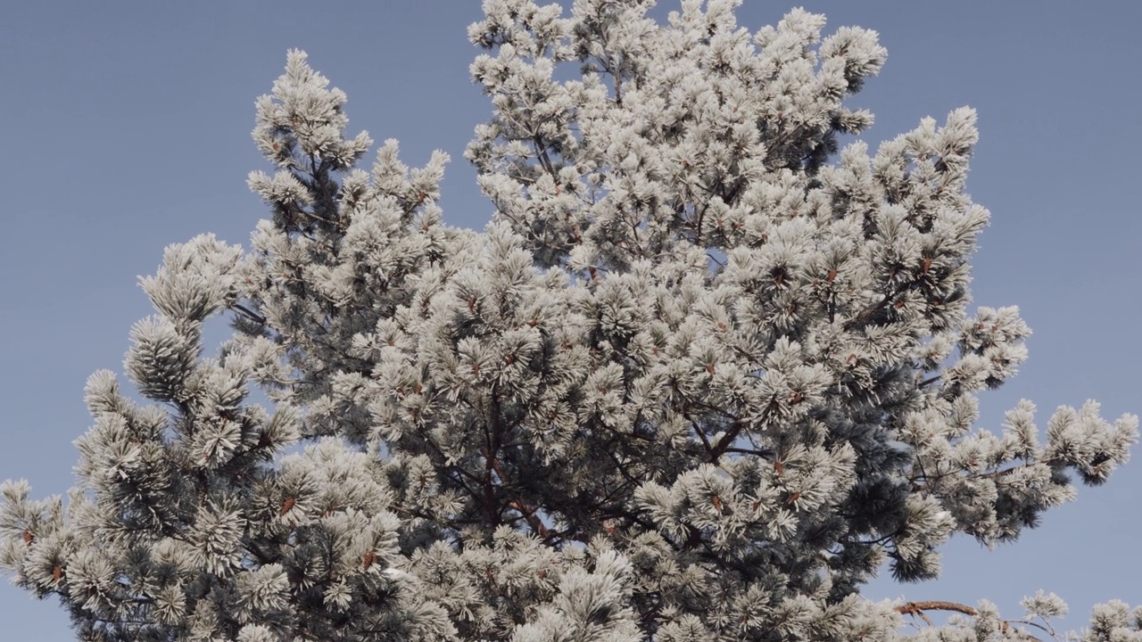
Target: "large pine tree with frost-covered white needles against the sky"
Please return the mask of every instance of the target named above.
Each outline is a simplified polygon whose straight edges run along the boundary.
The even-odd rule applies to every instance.
[[[15,583],[99,641],[1061,639],[1053,594],[860,596],[938,577],[954,532],[1016,539],[1137,436],[1094,402],[978,425],[1030,330],[971,306],[974,113],[839,149],[874,32],[652,3],[485,0],[483,233],[442,223],[444,154],[360,167],[345,94],[290,53],[254,133],[272,217],[142,281],[147,404],[97,372],[66,506],[3,487]],[[1081,640],[1140,628],[1115,602]]]

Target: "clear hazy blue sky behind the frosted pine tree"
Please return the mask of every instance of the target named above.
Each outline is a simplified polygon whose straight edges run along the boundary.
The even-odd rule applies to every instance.
[[[566,2],[570,3],[570,2]],[[677,0],[661,0],[674,9]],[[1103,402],[1142,411],[1140,190],[1142,2],[804,0],[827,31],[875,29],[888,62],[851,105],[870,109],[874,146],[967,104],[981,141],[968,188],[992,212],[975,303],[1022,307],[1031,358],[984,395],[998,428],[1020,398],[1040,408]],[[782,2],[745,0],[751,31]],[[395,137],[410,164],[453,162],[442,206],[482,228],[491,206],[461,153],[490,105],[469,83],[465,27],[476,0],[372,2],[7,2],[0,19],[0,479],[65,491],[72,440],[89,418],[87,376],[121,370],[128,330],[150,313],[136,275],[201,232],[248,244],[267,216],[246,188],[268,169],[249,131],[254,99],[301,48],[348,93],[351,131]],[[1142,455],[1105,487],[1048,513],[1015,545],[947,547],[944,576],[877,580],[870,596],[997,602],[1018,617],[1036,588],[1071,605],[1067,624],[1119,597],[1142,603]],[[54,601],[0,586],[2,640],[72,639]]]

